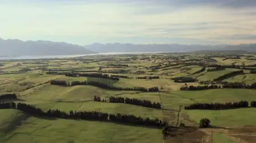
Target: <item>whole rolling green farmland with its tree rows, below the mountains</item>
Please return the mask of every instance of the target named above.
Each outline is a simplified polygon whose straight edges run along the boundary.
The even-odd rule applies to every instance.
[[[236,52],[2,61],[0,142],[255,143],[256,54]]]

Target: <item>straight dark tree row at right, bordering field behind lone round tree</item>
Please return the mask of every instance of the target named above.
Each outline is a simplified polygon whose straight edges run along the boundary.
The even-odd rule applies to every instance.
[[[239,109],[248,107],[247,101],[228,102],[228,103],[193,103],[192,105],[185,106],[185,110],[226,110],[226,109]]]

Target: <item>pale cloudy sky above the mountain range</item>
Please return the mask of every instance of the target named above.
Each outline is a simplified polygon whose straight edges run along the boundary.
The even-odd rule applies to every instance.
[[[78,45],[256,43],[256,0],[1,0],[0,38]]]

